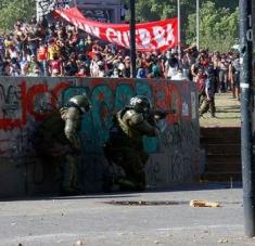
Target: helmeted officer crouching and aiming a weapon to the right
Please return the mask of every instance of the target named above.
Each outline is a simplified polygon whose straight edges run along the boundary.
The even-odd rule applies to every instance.
[[[120,190],[144,190],[149,155],[143,151],[142,137],[158,135],[156,119],[165,116],[154,114],[149,99],[143,95],[131,98],[129,104],[114,116],[104,153],[110,164],[120,166],[125,171],[125,177],[114,180]]]

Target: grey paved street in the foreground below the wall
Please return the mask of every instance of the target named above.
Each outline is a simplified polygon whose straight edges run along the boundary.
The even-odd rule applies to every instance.
[[[219,202],[193,208],[190,199]],[[111,205],[105,202],[169,202]],[[243,233],[242,190],[192,184],[170,191],[0,202],[0,245],[255,245]]]

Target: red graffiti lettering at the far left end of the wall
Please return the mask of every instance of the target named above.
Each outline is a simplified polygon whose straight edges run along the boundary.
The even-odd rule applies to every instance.
[[[28,115],[35,120],[42,119],[46,107],[56,107],[61,92],[69,87],[66,82],[52,89],[44,82],[27,86],[26,81],[11,85],[0,81],[0,129],[25,127]]]

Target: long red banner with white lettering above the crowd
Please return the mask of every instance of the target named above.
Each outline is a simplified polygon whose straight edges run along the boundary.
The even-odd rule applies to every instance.
[[[78,9],[55,10],[55,13],[86,33],[111,43],[130,48],[128,24],[100,23],[86,18]],[[177,18],[136,25],[136,46],[138,51],[165,51],[178,46]]]

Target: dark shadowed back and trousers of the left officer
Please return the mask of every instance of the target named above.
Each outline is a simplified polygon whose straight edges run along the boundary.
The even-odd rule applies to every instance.
[[[61,192],[72,194],[78,190],[78,169],[80,153],[66,134],[66,125],[73,107],[62,107],[53,111],[39,126],[35,148],[39,158],[46,165],[52,165],[55,181],[60,183]],[[74,122],[75,125],[75,122]]]

